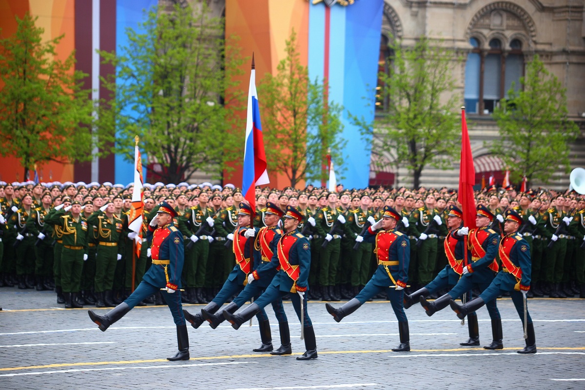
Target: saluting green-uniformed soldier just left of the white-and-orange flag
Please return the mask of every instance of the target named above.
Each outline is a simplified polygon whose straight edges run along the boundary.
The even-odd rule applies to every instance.
[[[113,305],[113,278],[118,263],[118,255],[124,254],[124,235],[122,219],[112,214],[109,219],[105,212],[98,210],[92,213],[88,222],[98,229],[97,259],[95,262],[95,293],[98,295],[98,306]]]

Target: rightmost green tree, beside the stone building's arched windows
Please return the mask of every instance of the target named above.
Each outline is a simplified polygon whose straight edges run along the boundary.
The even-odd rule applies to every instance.
[[[569,173],[569,143],[579,135],[579,127],[567,118],[566,89],[535,56],[520,78],[521,88],[512,85],[508,98],[494,109],[500,137],[491,152],[500,155],[515,180],[526,175],[548,183],[560,169]]]

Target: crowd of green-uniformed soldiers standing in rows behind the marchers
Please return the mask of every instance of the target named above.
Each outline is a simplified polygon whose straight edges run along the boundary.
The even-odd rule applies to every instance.
[[[183,234],[183,302],[211,302],[235,265],[231,241],[242,191],[207,182],[144,184],[140,256],[136,233],[128,227],[132,191],[132,184],[108,182],[0,183],[0,287],[54,289],[66,308],[121,303],[150,267],[147,227],[157,205],[166,201],[176,210],[174,226]],[[492,187],[477,191],[475,198],[495,216],[490,228],[498,234],[507,210],[522,217],[519,234],[529,243],[532,264],[529,298],[585,298],[583,195]],[[428,285],[448,264],[443,241],[449,206],[457,205],[453,189],[257,187],[254,227],[264,226],[267,202],[282,210],[297,208],[304,217],[299,229],[311,243],[308,299],[351,299],[363,289],[378,266],[375,244],[363,241],[363,234],[369,220],[381,218],[384,206],[400,213],[397,229],[409,240],[407,294]],[[161,304],[160,294],[140,305],[147,303]]]

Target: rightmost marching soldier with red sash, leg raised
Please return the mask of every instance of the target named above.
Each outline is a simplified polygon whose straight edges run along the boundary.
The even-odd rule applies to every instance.
[[[514,306],[520,316],[522,325],[526,329],[526,347],[517,351],[521,354],[536,353],[536,338],[534,325],[528,313],[526,293],[530,289],[531,263],[530,247],[528,242],[518,234],[518,227],[522,224],[522,216],[516,210],[508,210],[504,222],[505,236],[500,240],[498,253],[502,262],[502,269],[495,275],[493,282],[480,296],[464,305],[457,305],[450,301],[449,305],[457,317],[463,319],[468,312],[473,312],[490,302],[503,292],[510,291]],[[524,317],[526,322],[524,323]]]

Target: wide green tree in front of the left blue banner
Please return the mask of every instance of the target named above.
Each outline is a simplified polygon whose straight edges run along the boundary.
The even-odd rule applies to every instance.
[[[169,12],[151,9],[141,27],[144,33],[126,32],[129,44],[118,53],[100,52],[116,66],[115,77],[102,80],[112,99],[100,104],[101,126],[118,132],[115,150],[128,161],[139,135],[167,182],[188,180],[195,171],[219,177],[243,153],[243,134],[228,129],[244,96],[225,100],[243,60],[226,44],[223,19],[213,17],[205,2],[176,4]]]

